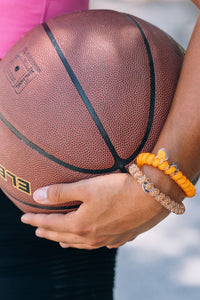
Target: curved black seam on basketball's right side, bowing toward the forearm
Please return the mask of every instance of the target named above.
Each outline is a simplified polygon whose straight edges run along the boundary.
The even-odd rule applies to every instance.
[[[128,14],[124,14],[124,15],[127,16],[131,21],[133,21],[135,23],[135,25],[137,26],[137,28],[139,29],[139,31],[142,35],[142,38],[143,38],[143,41],[144,41],[144,44],[145,44],[145,47],[146,47],[148,59],[149,59],[150,81],[151,81],[150,108],[149,108],[149,118],[148,118],[146,132],[143,136],[143,139],[142,139],[140,145],[136,149],[136,151],[128,159],[126,159],[127,163],[129,163],[132,160],[134,160],[135,157],[142,151],[142,149],[145,146],[146,141],[149,137],[151,128],[152,128],[153,119],[154,119],[154,109],[155,109],[155,93],[156,93],[155,92],[155,85],[156,85],[156,80],[155,80],[155,70],[154,70],[153,57],[152,57],[152,54],[151,54],[150,45],[148,43],[146,35],[145,35],[144,31],[142,30],[141,26],[139,25],[139,23],[132,16],[130,16]]]

